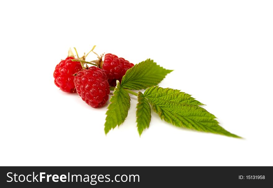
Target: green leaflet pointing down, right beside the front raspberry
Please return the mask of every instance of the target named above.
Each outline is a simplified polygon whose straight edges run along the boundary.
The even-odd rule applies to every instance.
[[[111,128],[114,129],[117,125],[119,126],[124,122],[130,108],[130,96],[120,87],[118,80],[113,94],[106,112],[107,116],[104,124],[105,134],[107,134]]]

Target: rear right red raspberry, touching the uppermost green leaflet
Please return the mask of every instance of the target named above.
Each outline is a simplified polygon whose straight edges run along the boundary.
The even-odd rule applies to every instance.
[[[100,65],[101,69],[108,77],[110,86],[116,86],[116,80],[121,82],[126,71],[132,66],[134,66],[134,64],[113,54],[105,54],[104,61],[101,62]]]

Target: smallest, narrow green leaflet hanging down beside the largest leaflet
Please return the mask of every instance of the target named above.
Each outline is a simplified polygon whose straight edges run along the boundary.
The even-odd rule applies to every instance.
[[[137,94],[137,130],[139,136],[145,128],[149,128],[151,121],[151,108],[141,92]]]

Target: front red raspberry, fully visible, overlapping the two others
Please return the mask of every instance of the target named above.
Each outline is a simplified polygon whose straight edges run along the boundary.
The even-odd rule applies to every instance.
[[[104,106],[110,89],[106,74],[95,66],[79,71],[74,78],[77,93],[87,105],[94,108]]]

